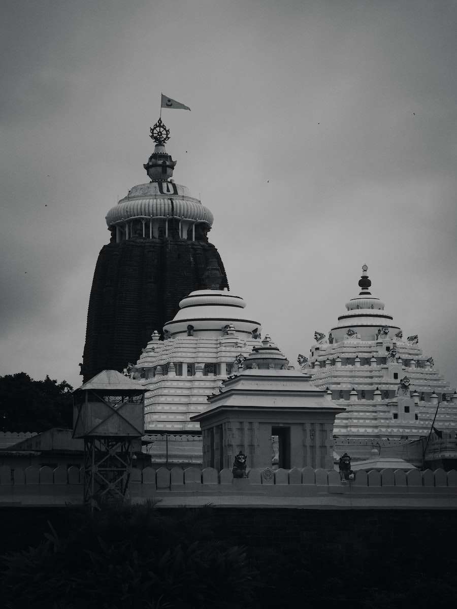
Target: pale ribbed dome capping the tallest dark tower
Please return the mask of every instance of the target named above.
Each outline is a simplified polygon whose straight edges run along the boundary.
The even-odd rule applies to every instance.
[[[171,182],[152,182],[133,186],[129,194],[108,211],[108,226],[134,217],[178,217],[213,224],[213,214],[185,186]]]

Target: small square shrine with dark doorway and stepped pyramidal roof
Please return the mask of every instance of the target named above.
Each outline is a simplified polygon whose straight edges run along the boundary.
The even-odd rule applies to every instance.
[[[241,451],[249,468],[333,469],[333,423],[344,408],[288,364],[265,337],[208,398],[209,409],[191,418],[202,428],[204,467],[230,468]]]

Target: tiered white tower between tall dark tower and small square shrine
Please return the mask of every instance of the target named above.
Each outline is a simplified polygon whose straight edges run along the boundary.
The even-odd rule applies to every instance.
[[[207,409],[207,396],[261,345],[260,322],[246,317],[243,298],[225,290],[191,292],[164,326],[165,340],[152,334],[134,378],[143,378],[147,433],[199,432],[190,421]]]

